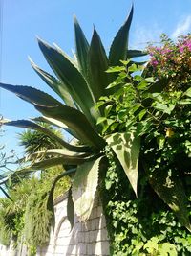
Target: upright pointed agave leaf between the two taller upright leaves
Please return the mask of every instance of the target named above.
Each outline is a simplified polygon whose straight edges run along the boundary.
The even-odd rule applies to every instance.
[[[98,101],[101,96],[105,95],[105,88],[109,81],[108,74],[105,72],[108,69],[108,59],[96,29],[94,29],[88,53],[88,63],[91,90],[95,95],[96,101]]]

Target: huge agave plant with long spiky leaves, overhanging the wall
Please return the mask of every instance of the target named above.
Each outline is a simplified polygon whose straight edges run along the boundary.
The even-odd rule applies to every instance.
[[[63,175],[74,174],[68,208],[69,212],[70,209],[74,209],[81,221],[86,221],[91,214],[98,175],[102,172],[102,168],[105,168],[105,164],[102,164],[105,158],[103,149],[107,143],[111,144],[114,150],[116,149],[117,158],[137,193],[139,139],[134,138],[132,134],[119,134],[115,139],[114,136],[107,138],[101,136],[101,127],[96,123],[98,118],[104,115],[104,109],[95,108],[101,96],[111,93],[110,90],[105,89],[115,79],[114,75],[105,72],[109,66],[120,65],[120,60],[144,55],[138,50],[128,50],[132,17],[133,7],[125,23],[117,32],[109,54],[106,53],[96,29],[94,29],[91,42],[87,41],[76,18],[74,18],[76,58],[67,56],[57,45],[52,47],[38,39],[40,50],[51,66],[55,77],[39,68],[31,60],[32,68],[53,89],[61,101],[30,86],[0,83],[0,87],[31,103],[42,114],[32,120],[4,123],[8,126],[41,131],[60,145],[59,149],[36,151],[28,155],[27,159],[31,160],[31,164],[17,172],[46,169],[58,164],[73,166],[73,169],[66,168],[67,171],[55,179],[53,189],[57,180]],[[39,121],[63,128],[75,138],[77,143],[64,141],[53,131],[40,126]],[[129,140],[131,143],[128,143]],[[121,148],[117,149],[116,145],[119,143]],[[125,158],[126,152],[130,155],[128,162]],[[52,209],[53,189],[49,200],[49,207],[52,205]],[[74,213],[70,212],[71,222],[74,221],[72,216]]]

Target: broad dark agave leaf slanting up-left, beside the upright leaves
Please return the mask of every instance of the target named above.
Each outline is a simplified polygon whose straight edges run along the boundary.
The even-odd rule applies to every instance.
[[[90,109],[96,102],[83,76],[65,55],[41,40],[38,44],[53,72],[67,86],[74,103],[91,118]]]

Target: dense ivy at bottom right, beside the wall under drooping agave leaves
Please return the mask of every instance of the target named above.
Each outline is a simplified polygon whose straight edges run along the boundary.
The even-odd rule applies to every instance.
[[[111,238],[111,255],[190,255],[190,233],[157,198],[145,176],[139,175],[138,198],[135,198],[109,147],[106,154],[110,167],[102,187],[102,197]],[[191,216],[190,206],[188,211]]]

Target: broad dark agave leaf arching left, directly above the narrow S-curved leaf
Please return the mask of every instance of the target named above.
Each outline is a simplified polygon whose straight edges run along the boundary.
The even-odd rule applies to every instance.
[[[59,105],[57,107],[35,105],[35,108],[43,115],[53,117],[66,124],[68,128],[75,131],[77,137],[84,144],[98,149],[102,149],[105,146],[105,141],[98,135],[86,116],[80,111],[67,105]]]

